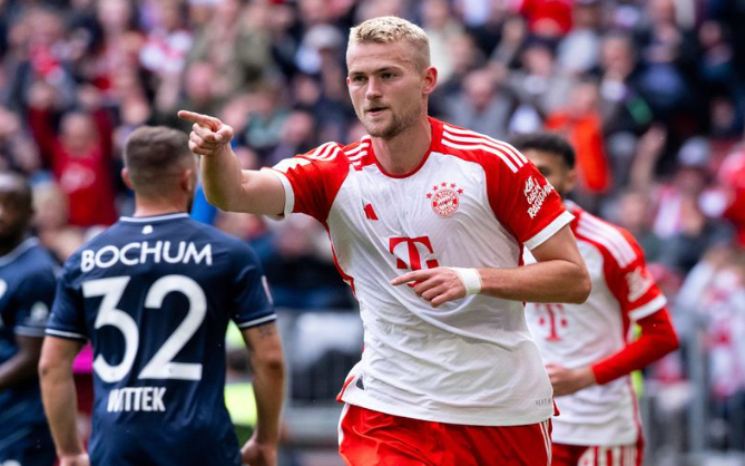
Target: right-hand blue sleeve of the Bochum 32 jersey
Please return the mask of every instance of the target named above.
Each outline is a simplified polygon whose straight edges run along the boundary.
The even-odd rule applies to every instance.
[[[241,329],[248,329],[276,319],[268,283],[256,254],[246,245],[235,254],[232,319]]]

